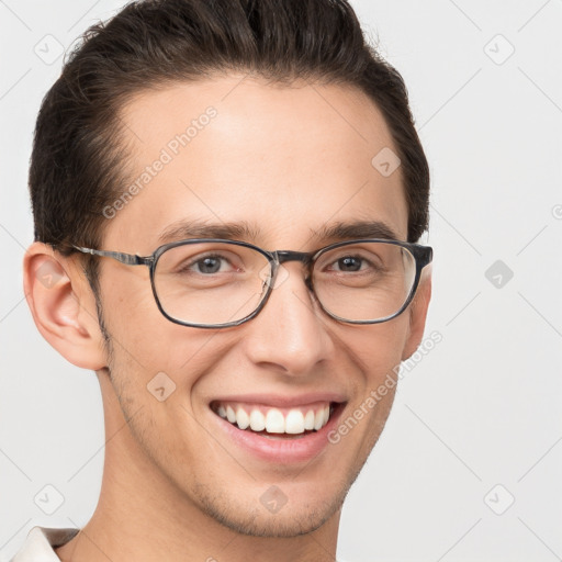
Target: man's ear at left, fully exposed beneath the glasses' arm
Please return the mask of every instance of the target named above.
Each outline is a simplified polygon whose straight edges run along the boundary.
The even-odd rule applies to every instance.
[[[23,260],[25,299],[43,337],[83,369],[106,366],[95,299],[76,256],[35,241]]]

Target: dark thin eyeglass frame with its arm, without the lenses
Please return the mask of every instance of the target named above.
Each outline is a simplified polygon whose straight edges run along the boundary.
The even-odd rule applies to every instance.
[[[240,318],[238,321],[227,322],[223,324],[195,324],[190,323],[186,321],[180,321],[178,318],[175,318],[170,316],[162,307],[160,300],[158,297],[158,292],[156,290],[156,283],[155,283],[155,272],[156,272],[156,266],[158,265],[158,260],[165,254],[166,251],[176,248],[178,246],[187,246],[189,244],[213,244],[213,243],[221,243],[221,244],[232,244],[235,246],[241,246],[245,248],[249,248],[252,250],[258,251],[263,257],[267,258],[269,266],[271,268],[271,277],[270,280],[266,283],[268,285],[266,294],[261,297],[261,301],[259,305],[245,316],[244,318]],[[385,316],[383,318],[379,318],[375,321],[350,321],[347,318],[342,318],[340,316],[337,316],[336,314],[333,314],[328,310],[324,307],[324,304],[316,295],[316,292],[314,290],[314,285],[312,282],[313,278],[313,268],[315,261],[326,251],[333,250],[335,248],[339,248],[342,246],[351,246],[353,244],[364,244],[364,243],[383,243],[383,244],[392,244],[395,246],[401,246],[402,248],[405,248],[408,250],[412,256],[414,257],[414,260],[416,262],[416,276],[414,278],[414,283],[412,284],[412,289],[409,290],[409,294],[404,302],[404,304],[398,308],[397,312],[392,314],[391,316]],[[149,255],[149,256],[138,256],[133,254],[125,254],[122,251],[108,251],[108,250],[95,250],[92,248],[85,248],[82,246],[71,246],[75,250],[78,250],[82,254],[89,254],[92,256],[100,256],[104,258],[113,258],[117,260],[119,262],[125,265],[125,266],[147,266],[149,270],[150,276],[150,286],[153,289],[153,295],[156,301],[156,305],[158,306],[158,310],[160,313],[170,322],[175,324],[179,324],[181,326],[188,326],[193,328],[204,328],[204,329],[218,329],[218,328],[227,328],[233,326],[239,326],[240,324],[245,324],[246,322],[255,318],[266,306],[267,301],[271,296],[271,293],[274,289],[274,283],[277,279],[277,274],[279,272],[279,268],[281,265],[288,262],[288,261],[301,261],[306,268],[307,268],[307,276],[304,278],[304,282],[306,284],[306,288],[308,291],[314,294],[316,301],[318,302],[318,305],[326,313],[330,318],[334,318],[338,322],[342,322],[346,324],[355,324],[355,325],[366,325],[366,324],[381,324],[383,322],[391,321],[402,314],[409,305],[409,303],[413,301],[414,295],[416,294],[416,291],[419,285],[419,280],[422,278],[422,270],[428,266],[432,261],[434,257],[434,250],[430,246],[423,246],[420,244],[416,243],[408,243],[403,240],[394,240],[394,239],[385,239],[385,238],[360,238],[360,239],[352,239],[352,240],[342,240],[335,244],[330,244],[328,246],[325,246],[323,248],[319,248],[314,251],[294,251],[294,250],[265,250],[263,248],[260,248],[259,246],[256,246],[254,244],[243,241],[243,240],[232,240],[226,238],[188,238],[183,240],[177,240],[168,244],[164,244],[156,248],[156,250]]]

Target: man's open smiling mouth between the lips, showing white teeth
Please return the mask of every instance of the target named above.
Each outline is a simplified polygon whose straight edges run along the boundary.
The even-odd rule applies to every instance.
[[[319,431],[345,403],[317,402],[290,408],[213,401],[211,409],[238,429],[270,439],[299,439]]]

